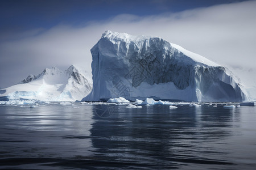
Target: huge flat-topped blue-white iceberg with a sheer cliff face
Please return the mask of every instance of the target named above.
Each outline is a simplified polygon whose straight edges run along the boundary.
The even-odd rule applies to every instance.
[[[159,37],[106,31],[91,49],[93,90],[83,101],[243,101],[229,70]]]

